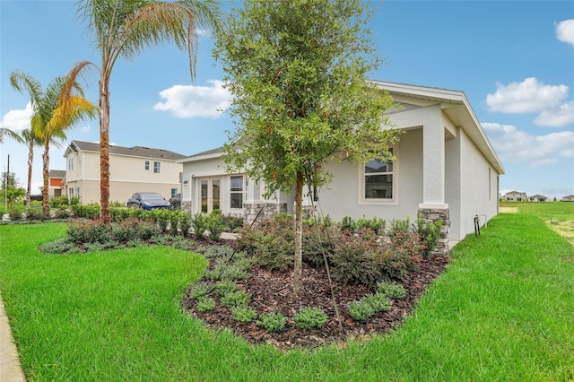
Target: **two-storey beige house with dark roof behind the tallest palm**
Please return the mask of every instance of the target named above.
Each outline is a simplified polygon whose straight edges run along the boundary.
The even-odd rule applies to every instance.
[[[100,203],[100,143],[72,141],[64,153],[65,195],[81,203]],[[177,152],[135,146],[109,146],[109,201],[126,204],[138,191],[166,199],[181,188],[182,164]]]

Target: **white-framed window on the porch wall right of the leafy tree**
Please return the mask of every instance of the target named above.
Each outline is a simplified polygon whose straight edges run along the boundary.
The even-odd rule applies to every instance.
[[[396,150],[390,149],[396,157]],[[396,204],[395,161],[368,161],[359,171],[360,204]]]

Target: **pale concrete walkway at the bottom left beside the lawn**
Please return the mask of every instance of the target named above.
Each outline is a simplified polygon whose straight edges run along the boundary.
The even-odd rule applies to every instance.
[[[0,296],[0,382],[23,382],[24,373]]]

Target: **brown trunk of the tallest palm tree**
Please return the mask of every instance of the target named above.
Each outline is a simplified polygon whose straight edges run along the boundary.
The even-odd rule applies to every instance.
[[[111,223],[109,214],[109,81],[100,82],[100,204],[101,218]]]

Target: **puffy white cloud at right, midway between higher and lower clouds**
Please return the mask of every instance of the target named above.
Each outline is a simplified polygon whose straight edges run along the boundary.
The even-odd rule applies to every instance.
[[[489,111],[502,113],[533,113],[552,109],[568,97],[568,86],[545,85],[534,77],[523,82],[502,85],[497,82],[496,91],[486,95]]]

